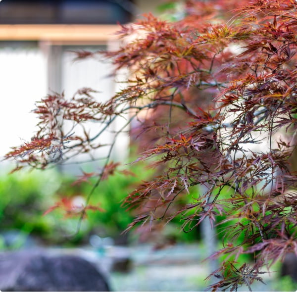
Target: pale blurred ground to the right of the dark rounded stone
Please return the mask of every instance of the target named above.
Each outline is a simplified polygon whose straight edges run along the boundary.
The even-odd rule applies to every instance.
[[[210,269],[208,263],[203,261],[205,249],[199,244],[174,245],[161,250],[154,250],[151,245],[136,245],[63,249],[63,252],[81,255],[97,264],[114,292],[205,291],[210,284],[204,281]],[[121,260],[127,258],[131,262],[128,271],[112,271],[113,264],[119,267]],[[289,286],[279,281],[277,273],[264,274],[262,278],[267,285],[256,282],[252,285],[252,291],[297,290],[297,287],[286,289]],[[238,291],[248,289],[243,286]]]

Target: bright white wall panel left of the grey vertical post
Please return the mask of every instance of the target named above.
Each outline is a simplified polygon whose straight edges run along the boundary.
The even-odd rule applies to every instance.
[[[46,58],[37,47],[0,49],[1,157],[32,137],[38,120],[30,111],[46,93]]]

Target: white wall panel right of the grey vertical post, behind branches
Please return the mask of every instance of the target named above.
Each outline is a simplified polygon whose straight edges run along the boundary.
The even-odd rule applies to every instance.
[[[92,88],[99,93],[95,93],[94,97],[100,101],[104,102],[112,97],[116,91],[115,77],[112,75],[112,65],[106,60],[96,61],[93,58],[84,59],[80,61],[74,61],[75,54],[71,51],[73,50],[98,50],[106,49],[105,48],[67,48],[62,50],[62,67],[61,67],[61,88],[65,93],[65,97],[71,98],[75,92],[84,87]],[[118,118],[119,120],[121,118]],[[121,123],[125,121],[122,120]],[[102,129],[104,125],[96,122],[88,122],[84,124],[86,129],[88,129],[90,137],[94,137]],[[121,125],[113,123],[104,133],[102,133],[99,139],[96,141],[96,144],[110,144],[113,141],[114,133],[116,129],[119,129]],[[76,129],[76,134],[83,135],[83,131],[80,128]],[[127,135],[122,135],[119,137],[119,142],[117,144],[117,149],[113,151],[112,159],[124,159],[127,153]],[[116,148],[116,147],[115,147]],[[109,146],[104,146],[99,148],[96,151],[93,151],[91,154],[94,158],[105,157],[108,154]],[[88,161],[90,160],[89,154],[83,154],[71,161]],[[88,164],[85,164],[88,165]],[[99,162],[95,163],[95,167],[100,165]],[[90,167],[90,164],[88,165]],[[94,166],[94,163],[93,163]],[[71,168],[64,168],[66,171],[72,171]]]

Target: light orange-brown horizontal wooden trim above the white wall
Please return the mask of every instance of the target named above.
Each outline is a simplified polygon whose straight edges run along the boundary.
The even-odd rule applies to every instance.
[[[1,24],[0,41],[106,42],[118,30],[103,24]]]

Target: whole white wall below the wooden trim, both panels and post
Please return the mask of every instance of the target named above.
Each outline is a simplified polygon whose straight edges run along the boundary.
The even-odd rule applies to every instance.
[[[94,59],[74,61],[75,54],[69,51],[90,48],[59,47],[52,53],[50,44],[47,46],[45,48],[45,44],[42,44],[40,49],[37,45],[30,45],[27,48],[26,43],[18,43],[16,48],[0,48],[0,156],[7,153],[11,146],[30,141],[38,123],[37,115],[30,111],[35,108],[35,102],[48,92],[64,91],[65,97],[71,98],[78,89],[90,87],[100,92],[95,95],[99,101],[105,101],[115,93],[115,78],[110,75],[110,63]],[[110,130],[119,129],[124,122],[123,119],[114,123]],[[98,123],[89,123],[86,127],[90,129],[91,136],[99,130]],[[112,131],[106,132],[101,135],[99,142],[110,143],[113,136]],[[113,153],[114,159],[124,159],[127,154],[128,135],[119,138]],[[108,148],[105,147],[94,154],[99,157],[107,152]],[[88,159],[90,157],[85,155],[75,160]],[[74,168],[72,165],[71,170]]]

